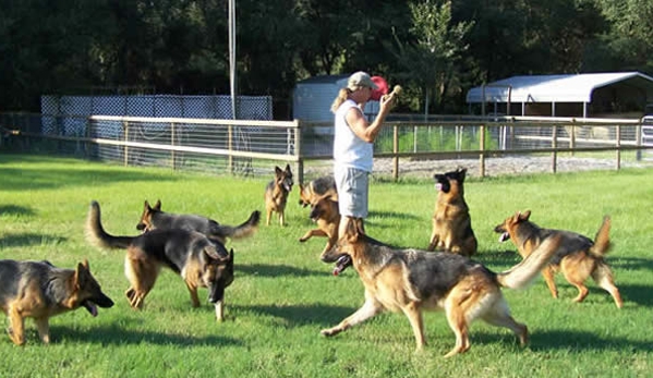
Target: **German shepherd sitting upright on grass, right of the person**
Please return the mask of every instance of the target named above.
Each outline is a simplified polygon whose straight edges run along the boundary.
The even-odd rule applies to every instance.
[[[464,202],[467,169],[435,174],[437,199],[433,214],[433,233],[428,251],[444,251],[467,257],[476,253],[469,207]]]

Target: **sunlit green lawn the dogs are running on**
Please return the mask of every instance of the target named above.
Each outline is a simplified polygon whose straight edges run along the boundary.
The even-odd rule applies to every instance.
[[[50,345],[40,344],[29,320],[25,346],[0,334],[0,376],[644,377],[653,369],[653,170],[468,180],[476,259],[494,270],[519,261],[515,247],[499,244],[492,231],[517,210],[531,209],[543,227],[590,237],[609,214],[615,247],[607,259],[625,305],[617,309],[591,281],[585,302],[571,303],[576,290],[559,276],[556,301],[539,278],[527,291],[505,291],[515,318],[529,326],[528,347],[519,347],[508,330],[479,321],[471,350],[449,359],[443,355],[455,338],[442,313],[425,316],[428,345],[422,353],[414,352],[412,331],[399,314],[331,339],[319,336],[363,303],[363,286],[353,269],[330,276],[331,266],[318,260],[324,239],[298,242],[312,223],[295,190],[288,227],[263,224],[253,237],[229,243],[237,278],[227,290],[223,324],[216,324],[206,303],[191,308],[183,282],[169,271],[145,309],[132,310],[123,295],[123,252],[99,251],[84,239],[92,199],[101,205],[107,231],[133,235],[145,199],[161,199],[170,212],[240,223],[264,209],[267,181],[0,155],[0,258],[49,259],[61,267],[88,258],[116,302],[97,318],[84,309],[52,318]],[[435,203],[430,179],[373,182],[370,202],[371,235],[427,245]]]

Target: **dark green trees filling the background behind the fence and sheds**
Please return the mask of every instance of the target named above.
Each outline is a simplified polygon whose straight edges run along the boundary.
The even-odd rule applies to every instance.
[[[237,0],[239,88],[288,118],[297,81],[367,70],[403,110],[460,112],[516,74],[653,73],[649,0]],[[0,110],[41,94],[229,93],[225,0],[0,0]]]

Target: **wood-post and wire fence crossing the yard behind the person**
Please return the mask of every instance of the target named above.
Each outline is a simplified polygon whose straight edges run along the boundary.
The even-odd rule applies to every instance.
[[[274,164],[291,163],[298,182],[304,172],[330,172],[334,144],[329,122],[11,113],[0,114],[0,127],[15,142],[3,145],[27,151],[210,173],[267,175]],[[551,172],[560,155],[591,155],[620,169],[625,160],[651,160],[646,127],[643,120],[531,117],[387,122],[374,148],[376,158],[391,160],[395,180],[401,167],[445,159],[474,159],[484,176],[494,173],[487,161],[507,156],[549,156]],[[327,168],[313,169],[321,162]]]

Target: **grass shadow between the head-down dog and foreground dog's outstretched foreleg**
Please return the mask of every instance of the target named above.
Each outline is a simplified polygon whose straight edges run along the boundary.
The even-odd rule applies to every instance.
[[[353,314],[358,307],[332,306],[324,304],[311,305],[255,305],[232,306],[240,312],[250,312],[263,316],[283,319],[289,327],[318,325],[318,327],[335,326],[340,320]]]

